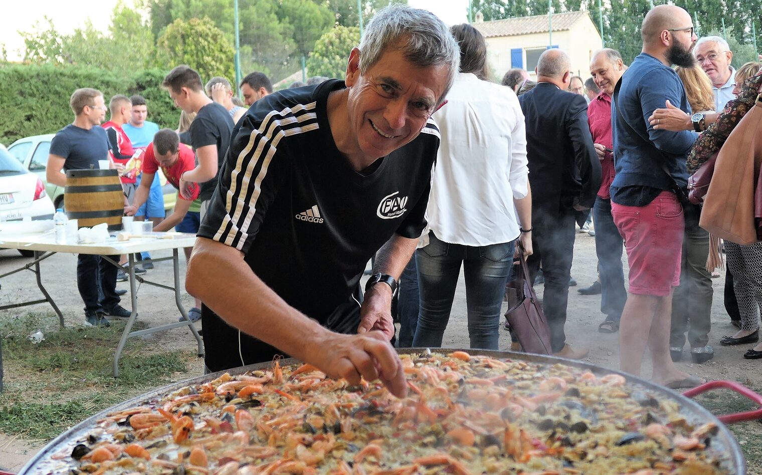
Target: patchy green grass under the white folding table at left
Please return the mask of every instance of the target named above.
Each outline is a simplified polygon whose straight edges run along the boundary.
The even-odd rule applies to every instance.
[[[133,329],[145,327],[136,322]],[[118,322],[109,328],[59,329],[56,319],[33,313],[2,318],[0,431],[47,442],[101,410],[187,373],[186,362],[195,352],[166,351],[155,340],[131,338],[114,378],[114,352],[123,329]],[[35,344],[27,335],[37,330],[45,340]]]

